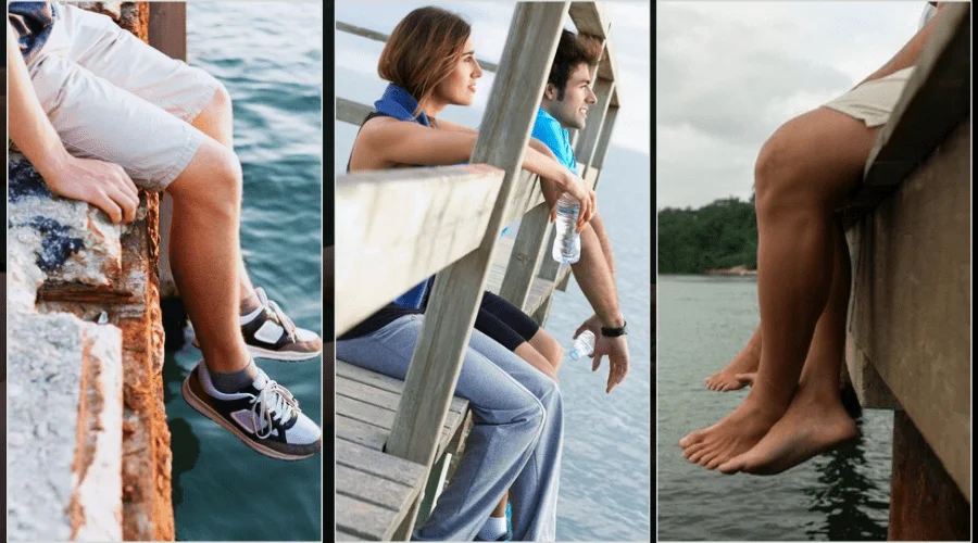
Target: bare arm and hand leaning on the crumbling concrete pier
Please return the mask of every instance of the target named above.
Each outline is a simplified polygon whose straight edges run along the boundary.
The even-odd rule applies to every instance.
[[[96,205],[113,223],[130,223],[139,204],[136,186],[122,167],[68,154],[48,121],[7,22],[7,70],[10,138],[30,161],[54,194]]]

